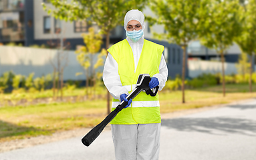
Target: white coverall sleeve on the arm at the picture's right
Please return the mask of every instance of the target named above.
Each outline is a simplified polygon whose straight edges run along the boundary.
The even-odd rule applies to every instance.
[[[164,59],[164,55],[161,57],[160,65],[159,65],[159,73],[153,75],[159,81],[159,90],[161,91],[162,88],[165,86],[165,82],[168,78],[168,68]]]

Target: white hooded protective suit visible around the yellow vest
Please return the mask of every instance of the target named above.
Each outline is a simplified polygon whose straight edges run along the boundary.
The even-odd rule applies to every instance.
[[[126,30],[127,23],[131,20],[139,21],[142,25],[142,30],[145,28],[144,15],[137,9],[133,9],[126,13],[124,17],[124,29]],[[134,56],[134,73],[136,71],[140,53],[144,43],[144,36],[133,42],[129,37],[126,37]],[[159,73],[154,75],[159,81],[159,90],[165,85],[168,76],[166,62],[162,55]],[[118,63],[108,53],[103,71],[103,81],[110,94],[120,100],[120,95],[126,93],[128,89],[122,86],[120,76],[118,75]],[[134,86],[135,88],[136,86]],[[113,106],[112,107],[116,107]],[[130,107],[130,106],[129,106]],[[153,124],[137,124],[137,125],[111,125],[112,137],[115,147],[116,159],[158,159],[160,146],[160,123]]]

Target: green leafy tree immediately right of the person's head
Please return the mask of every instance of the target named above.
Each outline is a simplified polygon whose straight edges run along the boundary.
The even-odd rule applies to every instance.
[[[160,39],[167,39],[170,43],[176,43],[183,49],[182,59],[182,103],[185,103],[184,81],[186,69],[186,48],[190,41],[197,39],[201,31],[201,12],[207,3],[202,0],[154,0],[150,2],[154,17],[146,17],[150,25],[158,23],[163,25],[166,33],[156,33]]]

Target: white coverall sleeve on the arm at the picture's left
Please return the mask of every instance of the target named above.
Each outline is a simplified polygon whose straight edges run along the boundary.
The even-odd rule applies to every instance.
[[[112,97],[114,97],[114,99],[120,100],[120,95],[122,95],[123,93],[126,93],[126,95],[128,95],[128,91],[125,87],[122,86],[120,76],[118,74],[118,63],[110,53],[108,53],[108,56],[106,58],[102,79],[104,85],[106,86]]]

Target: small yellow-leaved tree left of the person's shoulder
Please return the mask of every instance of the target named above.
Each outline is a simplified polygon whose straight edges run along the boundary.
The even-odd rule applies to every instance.
[[[98,59],[95,62],[96,53],[100,51],[102,45],[102,36],[96,34],[93,27],[90,27],[89,33],[83,33],[85,46],[80,47],[76,50],[77,59],[80,65],[84,68],[86,75],[86,95],[88,95],[89,81],[92,82],[92,86],[95,87],[96,83],[96,69],[102,65],[102,56],[106,56],[106,49],[102,49],[101,53],[98,55]],[[92,64],[94,66],[92,67]],[[94,89],[95,90],[95,89]]]

